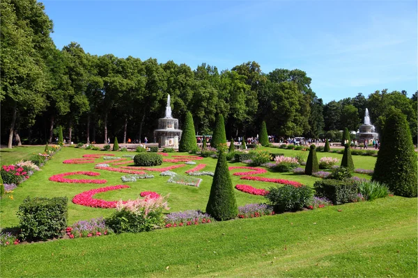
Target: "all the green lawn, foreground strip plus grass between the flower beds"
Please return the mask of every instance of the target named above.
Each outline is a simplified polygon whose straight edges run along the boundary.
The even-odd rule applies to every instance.
[[[270,148],[269,151],[286,156],[301,152]],[[113,153],[116,156],[134,154],[102,153]],[[303,153],[306,156],[308,154]],[[67,196],[71,200],[85,190],[118,184],[127,184],[130,188],[100,193],[95,198],[109,201],[136,199],[141,191],[151,190],[169,195],[171,212],[206,208],[212,177],[202,176],[203,182],[199,188],[167,183],[169,178],[160,177],[159,172],[148,172],[154,174],[154,179],[123,183],[122,173],[93,169],[95,163],[104,162],[102,158],[95,159],[95,163],[90,164],[62,163],[65,159],[81,158],[83,154],[100,152],[65,147],[41,171],[16,188],[11,193],[13,199],[1,199],[1,227],[17,226],[17,208],[26,196]],[[3,155],[13,156],[13,153],[1,155],[3,158]],[[172,155],[178,153],[170,154]],[[336,157],[340,161],[342,158],[342,154],[318,153],[318,158],[322,156]],[[7,159],[11,161],[11,158]],[[356,168],[373,169],[376,158],[353,156],[353,161]],[[217,160],[204,158],[196,163],[205,163],[207,166],[204,170],[214,171]],[[160,167],[169,165],[173,163],[163,163]],[[173,172],[184,174],[194,166],[186,165]],[[107,179],[107,183],[56,183],[48,180],[53,174],[73,171],[100,172],[100,176],[95,178]],[[232,170],[231,173],[244,171],[246,170]],[[308,186],[319,180],[315,177],[277,172],[268,172],[262,176],[300,181]],[[239,178],[231,175],[233,186],[238,183],[266,189],[276,186],[274,183]],[[265,200],[264,197],[238,190],[235,190],[235,197],[238,206]],[[112,211],[69,202],[68,224],[107,216]],[[417,277],[417,198],[387,197],[373,202],[329,206],[314,211],[162,229],[142,234],[53,240],[1,247],[0,262],[1,277]]]

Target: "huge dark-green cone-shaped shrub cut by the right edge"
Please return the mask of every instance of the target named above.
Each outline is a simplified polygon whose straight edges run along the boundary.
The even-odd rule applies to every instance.
[[[417,157],[405,116],[392,111],[385,121],[373,181],[386,183],[395,195],[417,197]]]

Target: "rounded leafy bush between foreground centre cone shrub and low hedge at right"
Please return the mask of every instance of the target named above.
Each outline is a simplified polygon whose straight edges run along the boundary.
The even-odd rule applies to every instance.
[[[295,187],[286,184],[269,188],[269,193],[265,197],[276,213],[300,211],[304,206],[311,203],[313,191],[307,186]]]

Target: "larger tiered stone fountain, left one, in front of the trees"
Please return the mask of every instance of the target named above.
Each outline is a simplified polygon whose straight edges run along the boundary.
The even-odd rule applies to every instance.
[[[159,147],[172,147],[178,149],[178,142],[181,138],[181,131],[178,129],[178,119],[171,115],[170,95],[167,97],[165,117],[158,120],[158,129],[154,131]]]

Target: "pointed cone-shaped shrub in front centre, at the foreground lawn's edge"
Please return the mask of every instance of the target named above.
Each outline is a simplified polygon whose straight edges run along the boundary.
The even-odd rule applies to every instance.
[[[238,206],[235,201],[231,176],[224,152],[219,152],[206,213],[220,221],[233,219],[238,215]]]

